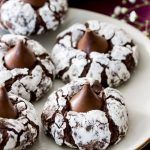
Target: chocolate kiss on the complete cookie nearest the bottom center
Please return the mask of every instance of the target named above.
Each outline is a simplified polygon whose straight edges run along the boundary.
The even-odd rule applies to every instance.
[[[70,100],[70,108],[75,112],[88,112],[90,110],[100,110],[103,101],[91,89],[90,84],[85,84],[81,91],[75,94]]]

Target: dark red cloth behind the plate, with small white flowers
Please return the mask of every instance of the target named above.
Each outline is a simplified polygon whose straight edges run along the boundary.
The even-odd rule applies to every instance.
[[[150,38],[150,0],[69,0],[69,4],[123,19]]]

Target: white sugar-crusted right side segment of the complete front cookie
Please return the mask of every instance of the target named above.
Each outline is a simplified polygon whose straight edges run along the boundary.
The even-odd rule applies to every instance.
[[[118,90],[106,88],[104,90],[106,95],[106,104],[108,115],[118,126],[119,137],[116,141],[119,142],[128,130],[128,113],[125,107],[124,98]]]

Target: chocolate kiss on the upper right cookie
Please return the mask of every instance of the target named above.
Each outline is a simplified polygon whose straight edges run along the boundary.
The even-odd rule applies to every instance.
[[[103,37],[97,36],[96,33],[87,29],[83,37],[79,40],[77,48],[88,54],[92,51],[107,53],[109,45]]]

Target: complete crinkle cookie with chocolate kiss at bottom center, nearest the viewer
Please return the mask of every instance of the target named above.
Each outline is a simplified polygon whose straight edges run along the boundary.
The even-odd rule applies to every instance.
[[[101,150],[118,143],[128,130],[128,113],[121,93],[98,81],[80,78],[48,98],[42,123],[58,145]]]

